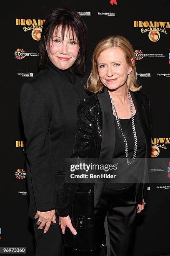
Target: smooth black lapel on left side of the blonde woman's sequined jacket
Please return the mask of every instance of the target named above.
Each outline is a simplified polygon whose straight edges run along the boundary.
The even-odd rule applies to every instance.
[[[102,141],[100,158],[112,158],[115,151],[115,121],[113,118],[112,105],[107,88],[97,93],[102,112]],[[95,183],[94,205],[97,206],[105,183]]]

